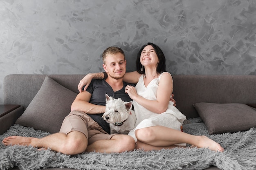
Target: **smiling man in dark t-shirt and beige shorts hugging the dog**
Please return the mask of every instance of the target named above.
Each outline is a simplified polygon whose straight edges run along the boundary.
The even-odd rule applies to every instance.
[[[102,59],[108,78],[93,80],[86,91],[76,96],[71,113],[63,120],[59,133],[41,139],[12,136],[4,138],[3,144],[51,148],[67,155],[84,151],[120,153],[134,150],[135,141],[132,137],[122,134],[110,135],[109,125],[101,118],[105,112],[105,93],[127,102],[132,101],[124,92],[127,86],[123,82],[126,73],[124,51],[117,47],[109,47],[103,52]]]

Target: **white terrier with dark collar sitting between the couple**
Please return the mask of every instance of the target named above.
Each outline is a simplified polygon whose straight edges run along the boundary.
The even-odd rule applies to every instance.
[[[110,134],[128,134],[135,128],[136,116],[132,109],[132,101],[124,102],[121,98],[114,99],[106,94],[106,111],[103,119],[109,123]]]

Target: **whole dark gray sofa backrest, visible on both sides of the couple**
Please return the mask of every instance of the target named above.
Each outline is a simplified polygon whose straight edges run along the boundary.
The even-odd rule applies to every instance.
[[[79,93],[77,85],[84,75],[7,75],[4,77],[4,104],[27,108],[46,76]],[[193,104],[256,103],[255,75],[173,75],[173,94],[177,108],[187,118],[198,117]]]

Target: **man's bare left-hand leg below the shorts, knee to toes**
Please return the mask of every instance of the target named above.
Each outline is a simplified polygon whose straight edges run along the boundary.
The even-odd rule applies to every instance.
[[[23,145],[38,148],[50,148],[56,152],[67,155],[75,155],[85,151],[88,140],[78,131],[68,133],[55,133],[43,138],[11,136],[2,141],[4,145]]]

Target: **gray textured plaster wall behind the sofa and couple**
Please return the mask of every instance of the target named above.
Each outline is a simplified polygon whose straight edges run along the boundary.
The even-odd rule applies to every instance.
[[[0,104],[4,76],[99,72],[113,45],[128,71],[154,42],[172,74],[256,75],[255,33],[255,0],[0,0]]]

